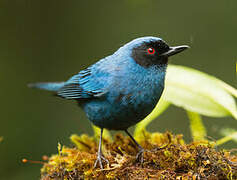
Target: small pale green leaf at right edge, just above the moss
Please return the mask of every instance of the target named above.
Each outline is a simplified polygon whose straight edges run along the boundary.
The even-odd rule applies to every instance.
[[[228,141],[235,141],[237,142],[237,130],[231,128],[224,128],[220,131],[221,135],[225,136],[216,141],[216,145],[220,146]]]

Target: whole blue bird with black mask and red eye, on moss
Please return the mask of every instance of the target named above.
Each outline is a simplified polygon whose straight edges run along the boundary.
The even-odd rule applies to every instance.
[[[57,96],[76,100],[88,119],[101,128],[95,167],[103,168],[101,150],[103,129],[128,132],[156,106],[164,89],[168,57],[187,49],[168,46],[157,37],[142,37],[120,47],[114,54],[80,71],[65,82],[34,83],[30,87],[53,91]]]

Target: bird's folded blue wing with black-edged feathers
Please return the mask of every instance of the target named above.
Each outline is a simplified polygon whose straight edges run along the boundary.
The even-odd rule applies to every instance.
[[[91,68],[80,71],[72,76],[65,85],[60,88],[57,95],[65,99],[88,99],[105,94],[104,83],[99,82]]]

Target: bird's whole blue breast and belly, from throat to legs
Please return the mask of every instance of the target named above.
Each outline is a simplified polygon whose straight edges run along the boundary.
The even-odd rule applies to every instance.
[[[111,79],[107,94],[85,104],[84,110],[97,126],[127,129],[154,109],[164,89],[165,71],[120,73]]]

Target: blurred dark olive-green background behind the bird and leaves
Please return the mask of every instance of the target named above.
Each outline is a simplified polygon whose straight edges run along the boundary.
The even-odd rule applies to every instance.
[[[56,153],[58,142],[70,145],[72,133],[92,134],[76,103],[28,89],[27,83],[66,80],[124,43],[152,35],[192,47],[172,63],[236,86],[236,18],[236,0],[1,0],[0,179],[39,179],[41,165],[23,164],[22,158],[40,160]],[[205,117],[204,123],[214,139],[220,128],[237,127],[233,118]],[[170,107],[151,126],[190,140],[182,109]]]

